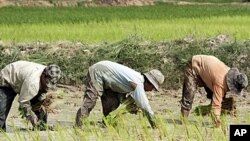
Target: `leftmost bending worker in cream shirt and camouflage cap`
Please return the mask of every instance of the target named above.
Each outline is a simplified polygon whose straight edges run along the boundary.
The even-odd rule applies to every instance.
[[[33,127],[46,123],[46,111],[33,111],[32,105],[44,100],[46,92],[56,87],[60,77],[61,70],[54,64],[17,61],[5,66],[0,71],[0,129],[6,131],[6,119],[17,94],[20,107]]]

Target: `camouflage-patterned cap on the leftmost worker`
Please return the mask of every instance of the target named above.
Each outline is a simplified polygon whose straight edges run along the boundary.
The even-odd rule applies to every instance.
[[[54,89],[57,82],[61,78],[61,69],[58,65],[51,64],[44,70],[46,76],[46,85],[48,88]]]

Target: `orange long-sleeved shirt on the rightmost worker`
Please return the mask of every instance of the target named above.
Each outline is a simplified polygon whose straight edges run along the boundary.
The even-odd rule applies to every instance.
[[[213,91],[212,109],[215,115],[220,115],[221,103],[228,91],[226,75],[230,68],[218,58],[209,55],[193,56],[192,68]]]

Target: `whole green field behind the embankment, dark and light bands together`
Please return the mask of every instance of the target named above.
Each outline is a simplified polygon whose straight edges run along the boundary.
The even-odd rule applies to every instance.
[[[241,40],[250,37],[249,17],[249,6],[5,7],[0,8],[0,39],[100,43],[131,34],[157,41],[227,34]]]

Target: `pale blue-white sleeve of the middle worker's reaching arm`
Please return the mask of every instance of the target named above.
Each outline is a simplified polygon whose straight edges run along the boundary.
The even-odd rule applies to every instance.
[[[144,91],[143,85],[137,84],[131,96],[135,100],[135,103],[138,107],[142,108],[142,110],[145,110],[150,115],[154,115],[154,112],[152,111],[151,106],[149,105],[149,101]]]

